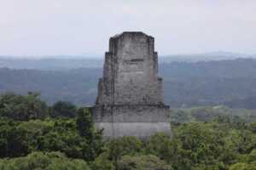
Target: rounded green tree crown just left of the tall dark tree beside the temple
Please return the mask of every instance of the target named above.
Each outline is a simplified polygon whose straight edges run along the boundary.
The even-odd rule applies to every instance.
[[[46,122],[46,121],[45,121]],[[71,158],[83,158],[82,146],[84,139],[79,135],[75,121],[57,119],[49,121],[36,137],[35,146],[41,151],[61,151]]]

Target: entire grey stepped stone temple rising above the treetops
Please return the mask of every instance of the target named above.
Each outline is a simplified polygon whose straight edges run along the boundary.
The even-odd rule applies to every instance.
[[[93,109],[96,127],[104,128],[104,136],[110,138],[170,134],[168,110],[154,37],[143,32],[111,37]]]

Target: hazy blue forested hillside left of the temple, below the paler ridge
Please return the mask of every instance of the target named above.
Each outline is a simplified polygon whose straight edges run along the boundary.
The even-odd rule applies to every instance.
[[[38,71],[0,69],[0,94],[15,92],[40,92],[50,104],[57,100],[74,104],[92,104],[96,97],[101,69],[76,69],[72,71]]]

